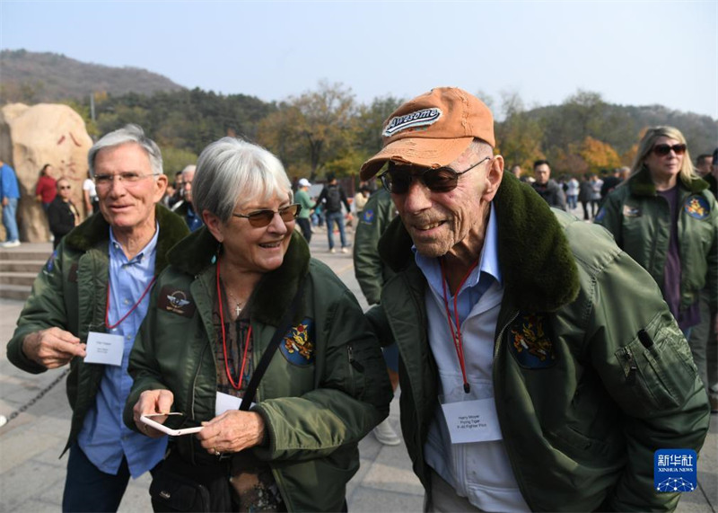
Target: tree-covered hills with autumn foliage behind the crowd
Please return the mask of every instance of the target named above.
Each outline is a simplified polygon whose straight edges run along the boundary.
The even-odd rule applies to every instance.
[[[83,116],[92,137],[136,123],[162,147],[168,173],[195,161],[210,142],[229,135],[267,146],[293,177],[315,180],[328,171],[355,175],[381,148],[381,123],[402,102],[390,96],[357,102],[350,86],[326,81],[279,102],[264,102],[245,94],[190,91],[143,70],[85,65],[57,54],[17,50],[1,52],[0,58],[4,102],[66,102]],[[50,80],[38,71],[45,66],[39,62],[47,69],[63,66],[66,71]],[[91,69],[106,73],[92,78]],[[22,76],[22,84],[43,85],[13,89],[9,75]],[[144,84],[150,90],[143,89]],[[525,108],[517,93],[502,93],[500,102],[486,101],[500,119],[495,125],[496,151],[507,166],[521,164],[525,171],[541,158],[551,162],[556,176],[630,165],[645,129],[657,125],[679,128],[694,160],[718,146],[718,123],[708,116],[661,105],[611,104],[600,93],[578,91],[560,105],[533,109]]]

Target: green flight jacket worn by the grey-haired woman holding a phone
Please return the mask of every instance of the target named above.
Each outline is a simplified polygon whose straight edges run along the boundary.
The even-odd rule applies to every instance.
[[[173,409],[195,421],[215,417],[218,366],[212,305],[218,243],[200,228],[170,254],[130,355],[135,379],[125,423],[144,390],[169,389]],[[320,261],[310,258],[302,235],[293,233],[282,266],[267,273],[252,296],[252,359],[259,361],[301,279],[303,297],[293,326],[307,326],[307,358],[289,358],[280,341],[259,382],[256,405],[267,445],[253,447],[266,461],[289,511],[338,511],[346,482],[359,468],[357,443],[389,414],[391,388],[381,349],[352,293]],[[172,306],[167,296],[188,303]],[[287,334],[289,335],[289,334]],[[177,439],[186,461],[207,464],[195,437]]]

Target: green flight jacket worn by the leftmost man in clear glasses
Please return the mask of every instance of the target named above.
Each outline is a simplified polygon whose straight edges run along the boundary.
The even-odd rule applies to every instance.
[[[167,266],[166,253],[189,233],[185,222],[167,208],[155,206],[160,233],[157,235],[155,276]],[[87,341],[90,327],[105,323],[109,279],[109,224],[100,214],[89,217],[66,234],[32,285],[22,308],[13,338],[7,344],[7,358],[15,367],[39,374],[48,370],[22,352],[22,340],[32,332],[57,326]],[[83,427],[84,417],[95,402],[104,366],[85,364],[74,358],[67,376],[67,398],[73,409],[67,447]]]

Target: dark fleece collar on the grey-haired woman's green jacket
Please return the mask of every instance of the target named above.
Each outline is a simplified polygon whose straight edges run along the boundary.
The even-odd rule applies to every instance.
[[[171,249],[171,265],[192,277],[214,267],[221,244],[202,226]],[[262,278],[252,296],[252,317],[276,326],[292,302],[300,280],[309,273],[310,252],[304,237],[293,230],[282,265]],[[213,271],[214,272],[214,271]],[[295,322],[301,320],[297,312]]]

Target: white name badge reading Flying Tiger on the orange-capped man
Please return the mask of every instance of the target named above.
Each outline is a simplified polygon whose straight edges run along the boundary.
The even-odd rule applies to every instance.
[[[494,398],[442,404],[452,444],[502,439]]]

